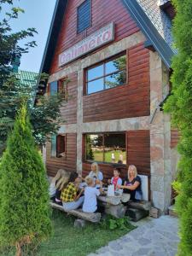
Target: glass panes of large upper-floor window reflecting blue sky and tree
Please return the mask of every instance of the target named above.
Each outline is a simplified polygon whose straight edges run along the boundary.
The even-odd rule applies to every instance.
[[[104,61],[86,70],[86,94],[126,83],[126,55]]]

